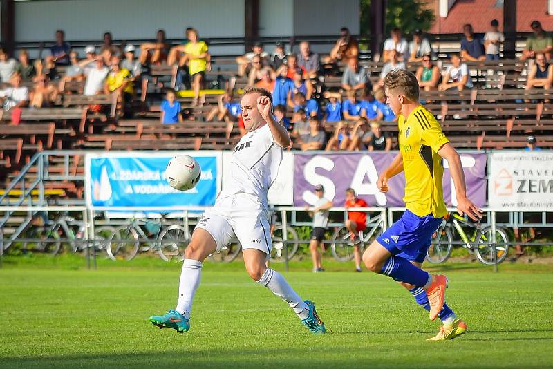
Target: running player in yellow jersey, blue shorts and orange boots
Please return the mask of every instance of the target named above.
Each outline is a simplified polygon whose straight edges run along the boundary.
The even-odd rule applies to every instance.
[[[388,191],[388,179],[405,172],[405,207],[402,218],[375,240],[363,255],[366,267],[399,281],[429,311],[442,320],[440,332],[430,341],[452,339],[465,333],[467,325],[444,301],[447,278],[421,269],[432,234],[446,214],[442,158],[449,163],[457,195],[457,209],[471,219],[482,211],[468,198],[460,156],[442,132],[435,117],[419,102],[419,85],[413,73],[393,70],[384,79],[387,103],[398,117],[400,153],[377,181]]]

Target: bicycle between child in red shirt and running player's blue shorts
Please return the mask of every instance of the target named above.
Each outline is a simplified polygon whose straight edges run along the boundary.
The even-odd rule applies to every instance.
[[[363,253],[366,244],[371,244],[377,236],[384,231],[384,219],[382,215],[367,217],[366,228],[359,231],[359,251]],[[350,261],[353,259],[353,239],[349,229],[343,225],[337,228],[332,235],[330,250],[337,261]]]

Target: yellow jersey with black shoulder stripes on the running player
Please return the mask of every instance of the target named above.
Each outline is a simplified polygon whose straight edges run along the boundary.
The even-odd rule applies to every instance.
[[[438,150],[449,142],[440,123],[424,107],[418,106],[405,119],[397,118],[400,151],[405,172],[405,207],[418,216],[446,214],[442,178],[444,167]]]

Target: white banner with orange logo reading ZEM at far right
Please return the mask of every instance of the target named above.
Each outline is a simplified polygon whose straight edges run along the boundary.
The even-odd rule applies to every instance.
[[[490,155],[489,207],[553,209],[553,151],[495,151]]]

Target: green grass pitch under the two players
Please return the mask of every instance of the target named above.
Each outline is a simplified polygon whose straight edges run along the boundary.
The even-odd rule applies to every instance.
[[[76,256],[9,256],[0,269],[0,368],[553,367],[551,265],[440,267],[469,333],[431,343],[438,322],[397,283],[326,264],[338,272],[312,274],[303,261],[285,274],[317,303],[322,337],[241,263],[205,263],[191,330],[180,335],[147,322],[174,308],[178,264],[100,259],[88,271]]]

